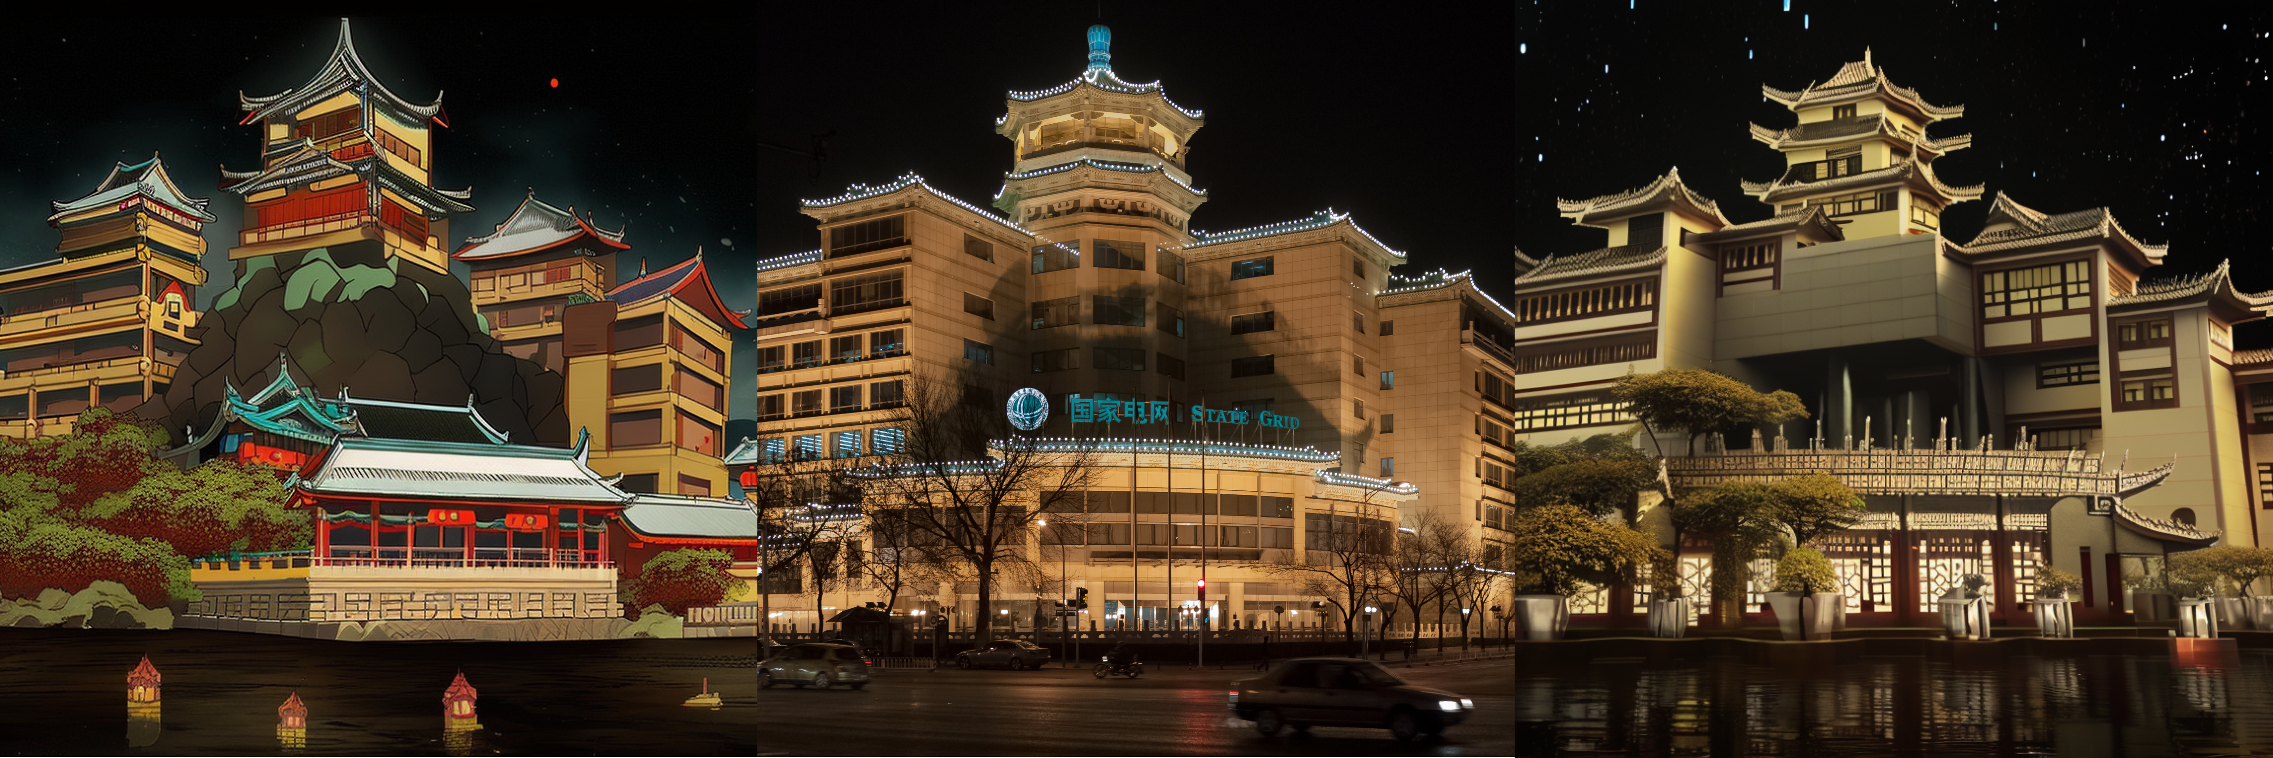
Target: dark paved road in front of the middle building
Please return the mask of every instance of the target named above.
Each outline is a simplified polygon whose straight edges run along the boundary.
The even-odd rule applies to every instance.
[[[1232,719],[1225,685],[1250,669],[884,672],[866,690],[757,690],[759,756],[1514,756],[1514,663],[1391,667],[1475,699],[1443,738],[1396,742],[1382,728],[1262,738]]]

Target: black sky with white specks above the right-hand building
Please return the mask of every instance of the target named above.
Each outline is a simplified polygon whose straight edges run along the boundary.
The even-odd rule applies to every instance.
[[[1893,84],[1966,107],[1928,129],[1971,132],[1973,148],[1934,170],[1989,191],[1943,213],[1950,238],[1980,231],[1996,191],[2046,213],[2109,207],[2132,236],[2171,243],[2148,277],[2232,259],[2241,290],[2268,290],[2273,23],[2264,5],[2241,7],[1523,0],[1514,243],[1532,256],[1600,247],[1602,231],[1571,227],[1555,197],[1625,191],[1671,166],[1730,220],[1766,218],[1737,182],[1773,179],[1784,163],[1746,123],[1782,129],[1796,116],[1759,84],[1805,89],[1868,45]],[[2273,327],[2248,325],[2239,338],[2268,347]]]

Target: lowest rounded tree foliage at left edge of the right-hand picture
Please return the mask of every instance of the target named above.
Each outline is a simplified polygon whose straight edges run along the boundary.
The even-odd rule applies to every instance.
[[[1523,536],[1507,545],[1507,567],[1521,595],[1571,597],[1584,586],[1630,581],[1664,551],[1650,536],[1577,506],[1523,508],[1507,529]]]

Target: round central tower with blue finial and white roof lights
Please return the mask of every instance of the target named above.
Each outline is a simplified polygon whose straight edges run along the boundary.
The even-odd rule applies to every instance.
[[[1184,170],[1200,125],[1200,111],[1171,102],[1159,82],[1114,73],[1102,25],[1089,27],[1089,66],[1073,82],[1007,93],[996,134],[1011,141],[1014,163],[996,209],[1036,238],[1021,268],[1043,393],[1182,399],[1177,250],[1207,202]]]

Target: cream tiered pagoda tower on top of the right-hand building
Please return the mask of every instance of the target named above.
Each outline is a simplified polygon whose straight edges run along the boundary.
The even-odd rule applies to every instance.
[[[1966,109],[1930,104],[1896,86],[1871,64],[1871,50],[1827,82],[1759,91],[1800,118],[1791,129],[1752,125],[1752,138],[1782,152],[1787,168],[1773,182],[1743,182],[1743,193],[1777,216],[1823,207],[1846,238],[1937,234],[1941,209],[1982,195],[1978,184],[1950,186],[1934,175],[1934,159],[1973,145],[1973,136],[1925,136],[1930,125]]]

